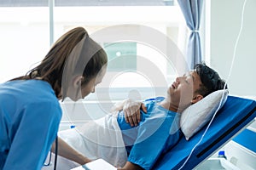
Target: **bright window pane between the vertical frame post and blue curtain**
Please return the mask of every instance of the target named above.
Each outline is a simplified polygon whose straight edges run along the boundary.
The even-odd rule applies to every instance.
[[[154,13],[152,12],[154,11]],[[83,26],[90,35],[95,35],[99,31],[108,29],[112,26],[148,26],[154,31],[169,37],[177,48],[183,50],[186,46],[186,25],[183,14],[179,6],[83,6],[83,7],[55,7],[55,39],[60,37],[64,32],[75,26]],[[131,29],[129,33],[140,36],[139,29]],[[125,32],[124,32],[125,34]],[[104,37],[114,37],[112,35],[104,35]],[[152,35],[148,34],[148,37]],[[107,38],[108,39],[108,38]],[[110,38],[111,39],[111,38]],[[152,36],[152,39],[154,37]],[[119,42],[99,42],[107,51],[108,60],[108,79],[111,78],[113,87],[148,87],[152,84],[150,77],[143,71],[158,70],[161,76],[165,77],[166,83],[173,81],[177,72],[173,67],[172,61],[165,56],[163,51],[152,47],[147,42],[134,42],[129,40],[119,40]],[[166,44],[167,45],[167,44]],[[182,51],[183,52],[183,51]],[[183,52],[184,54],[184,52]],[[172,53],[170,54],[172,55]],[[167,59],[166,59],[167,58]],[[150,70],[149,65],[145,65],[145,59],[154,64],[154,70]],[[147,61],[146,61],[147,62]],[[157,72],[157,71],[155,71]],[[131,74],[129,74],[131,73]],[[137,77],[145,76],[144,82],[134,82],[134,74]],[[117,76],[119,75],[119,76]],[[125,80],[123,84],[114,80],[118,77]],[[103,79],[104,80],[104,79]],[[145,82],[148,80],[149,82]],[[109,83],[109,82],[108,82]],[[99,88],[108,88],[110,85],[104,81],[98,85]],[[163,87],[162,82],[154,83],[156,86]],[[151,86],[151,85],[150,85]]]

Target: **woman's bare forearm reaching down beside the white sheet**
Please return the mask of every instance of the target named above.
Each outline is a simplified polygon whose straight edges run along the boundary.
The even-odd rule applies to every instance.
[[[51,147],[52,152],[55,153],[55,142]],[[81,165],[90,162],[91,160],[83,156],[77,150],[74,150],[73,147],[68,145],[64,140],[58,137],[58,155],[63,156],[71,161],[76,161]]]

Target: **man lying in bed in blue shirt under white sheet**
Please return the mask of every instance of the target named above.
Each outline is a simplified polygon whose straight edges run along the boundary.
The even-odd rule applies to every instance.
[[[116,115],[105,116],[59,135],[87,156],[86,159],[102,157],[119,170],[151,169],[159,156],[180,139],[181,113],[189,105],[223,88],[224,81],[216,71],[205,64],[198,64],[195,70],[177,77],[167,89],[166,98],[137,102],[141,111],[131,115],[126,107]],[[99,124],[101,126],[97,127]],[[65,164],[62,160],[58,165],[61,163]]]

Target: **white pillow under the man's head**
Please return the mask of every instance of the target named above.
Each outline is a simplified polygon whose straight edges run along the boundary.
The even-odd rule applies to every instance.
[[[212,116],[218,109],[222,96],[224,95],[219,109],[226,102],[228,94],[228,89],[212,92],[212,94],[208,94],[205,98],[196,102],[194,105],[190,105],[182,112],[180,126],[187,140],[212,119]]]

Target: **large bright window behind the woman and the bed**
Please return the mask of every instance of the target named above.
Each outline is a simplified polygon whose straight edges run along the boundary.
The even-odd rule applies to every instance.
[[[52,41],[76,26],[84,26],[93,36],[111,26],[137,25],[136,29],[129,29],[135,37],[140,36],[139,26],[148,26],[171,38],[179,49],[186,47],[187,28],[175,0],[55,0],[55,5],[52,2],[54,0],[0,2],[3,16],[0,18],[0,82],[25,75],[44,59]],[[148,38],[154,43],[153,35],[148,33]],[[97,93],[90,94],[82,103],[62,104],[64,122],[102,116],[102,111],[108,112],[119,99],[145,99],[166,94],[166,86],[177,75],[175,63],[166,56],[172,54],[172,49],[168,48],[167,53],[140,41],[99,43],[110,61],[108,75],[96,89]],[[168,47],[167,42],[164,45]],[[65,114],[70,111],[73,113]]]

